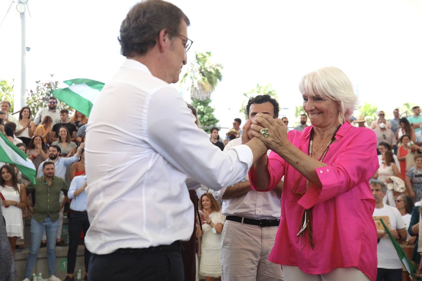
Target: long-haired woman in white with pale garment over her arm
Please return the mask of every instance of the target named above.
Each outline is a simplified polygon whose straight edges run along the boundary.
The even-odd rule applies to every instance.
[[[384,182],[385,184],[390,183],[391,176],[396,176],[401,179],[400,171],[398,170],[397,165],[394,163],[393,153],[391,151],[386,151],[382,157],[382,162],[379,163],[378,171],[374,176],[375,179]],[[388,203],[390,206],[395,207],[395,196],[392,190],[387,190],[387,194],[384,196],[384,203]]]

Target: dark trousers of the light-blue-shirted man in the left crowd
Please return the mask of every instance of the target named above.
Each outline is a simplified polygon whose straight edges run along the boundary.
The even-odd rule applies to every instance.
[[[78,249],[81,230],[84,236],[87,235],[89,228],[88,214],[77,213],[71,211],[69,218],[69,249],[68,249],[68,273],[75,272],[76,250]],[[89,257],[91,253],[85,247],[85,272],[88,272]]]

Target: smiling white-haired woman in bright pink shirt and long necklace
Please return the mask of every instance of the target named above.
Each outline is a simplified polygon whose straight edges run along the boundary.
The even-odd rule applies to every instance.
[[[357,96],[341,70],[310,72],[299,88],[312,126],[287,133],[280,119],[258,114],[242,135],[242,142],[257,137],[272,150],[251,167],[252,188],[272,190],[284,176],[280,225],[268,260],[282,266],[286,281],[376,280],[369,185],[379,167],[376,135],[344,121]]]

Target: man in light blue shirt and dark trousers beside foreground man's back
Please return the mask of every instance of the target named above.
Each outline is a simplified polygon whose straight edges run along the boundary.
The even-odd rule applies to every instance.
[[[68,249],[68,276],[65,281],[74,281],[76,264],[76,251],[78,250],[79,236],[81,236],[81,230],[84,231],[84,235],[87,234],[89,228],[89,220],[87,214],[87,193],[85,192],[87,187],[87,176],[76,176],[70,183],[68,198],[73,199],[70,203],[70,218],[69,218],[69,249]],[[85,277],[84,280],[88,280],[88,265],[89,265],[89,253],[87,247],[85,247]]]

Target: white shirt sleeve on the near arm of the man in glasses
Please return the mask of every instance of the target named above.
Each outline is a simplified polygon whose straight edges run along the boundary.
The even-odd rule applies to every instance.
[[[246,145],[223,152],[197,128],[186,102],[171,87],[159,89],[149,99],[145,116],[148,142],[162,157],[197,182],[219,190],[244,180],[252,165]]]

